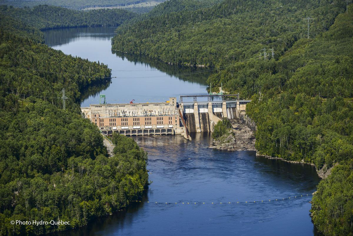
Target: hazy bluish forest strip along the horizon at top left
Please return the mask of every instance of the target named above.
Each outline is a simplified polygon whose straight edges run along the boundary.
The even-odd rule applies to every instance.
[[[153,0],[156,1],[156,0]],[[51,5],[65,7],[73,10],[82,10],[92,7],[119,7],[131,4],[149,2],[148,0],[2,0],[1,4],[14,7],[34,7],[38,5]],[[163,0],[161,0],[163,2]]]

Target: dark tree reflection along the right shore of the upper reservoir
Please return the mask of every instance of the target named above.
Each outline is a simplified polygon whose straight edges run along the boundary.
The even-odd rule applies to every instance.
[[[137,54],[126,54],[121,52],[112,51],[113,54],[116,54],[118,57],[121,57],[123,60],[126,58],[128,61],[131,61],[135,64],[148,64],[151,67],[155,67],[157,70],[162,71],[170,76],[175,76],[181,81],[190,81],[203,85],[207,85],[207,78],[213,74],[213,72],[205,71],[209,68],[202,67],[192,67],[192,66],[181,66],[181,65],[170,65],[167,63],[163,63],[158,60],[150,59],[145,55],[137,55]],[[202,72],[203,73],[194,73],[191,75],[180,75],[184,73],[192,73],[192,72]]]

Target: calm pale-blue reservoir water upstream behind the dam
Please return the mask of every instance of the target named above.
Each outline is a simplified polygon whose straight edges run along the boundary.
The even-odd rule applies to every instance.
[[[147,58],[111,51],[115,28],[71,28],[44,31],[46,44],[66,54],[99,61],[112,69],[112,83],[102,91],[82,94],[81,106],[99,103],[105,94],[108,103],[166,101],[179,95],[206,94],[205,83],[210,72],[205,68],[170,66]],[[183,74],[183,75],[180,75]],[[174,76],[179,75],[179,76]],[[190,98],[192,101],[192,98]]]

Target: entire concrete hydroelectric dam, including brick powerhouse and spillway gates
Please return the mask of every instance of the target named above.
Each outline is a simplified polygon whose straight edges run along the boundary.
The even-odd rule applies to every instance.
[[[229,99],[229,97],[237,99]],[[193,102],[183,102],[183,98]],[[198,102],[197,98],[208,101]],[[221,97],[212,101],[212,97]],[[113,132],[125,136],[181,134],[191,140],[190,132],[213,132],[214,126],[223,117],[239,119],[251,100],[239,100],[231,95],[181,95],[179,102],[169,98],[164,102],[107,104],[105,95],[100,95],[100,104],[81,107],[85,118],[98,126],[105,135]],[[103,101],[102,101],[103,100]]]

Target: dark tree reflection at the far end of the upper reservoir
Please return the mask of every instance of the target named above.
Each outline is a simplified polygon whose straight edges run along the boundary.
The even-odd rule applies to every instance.
[[[92,38],[112,38],[115,28],[83,27],[43,30],[46,45],[52,47],[72,42],[78,35],[89,35]]]

